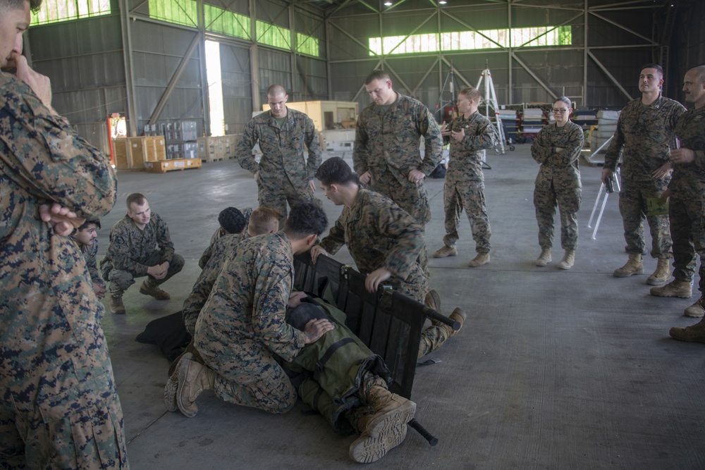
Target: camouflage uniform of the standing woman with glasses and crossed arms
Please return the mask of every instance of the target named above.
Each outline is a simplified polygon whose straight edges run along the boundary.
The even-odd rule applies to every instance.
[[[582,201],[580,151],[584,143],[580,125],[568,121],[541,129],[531,146],[531,156],[541,165],[534,188],[534,207],[539,223],[539,246],[553,247],[553,216],[560,210],[560,246],[577,248],[577,211]],[[563,151],[556,151],[560,147]]]

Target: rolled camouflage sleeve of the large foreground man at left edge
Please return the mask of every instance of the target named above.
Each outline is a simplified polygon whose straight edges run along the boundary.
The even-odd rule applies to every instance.
[[[57,202],[78,217],[101,218],[115,204],[116,176],[107,157],[24,82],[0,73],[0,152],[8,174],[40,202]]]

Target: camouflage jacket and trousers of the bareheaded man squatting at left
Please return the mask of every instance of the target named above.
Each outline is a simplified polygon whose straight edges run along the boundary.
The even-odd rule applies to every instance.
[[[169,268],[163,279],[147,275],[147,268],[164,261]],[[110,282],[110,295],[118,297],[135,283],[135,278],[147,276],[149,283],[160,285],[183,268],[183,257],[174,253],[166,222],[152,212],[144,230],[137,228],[125,215],[110,230],[110,243],[100,262],[103,278]]]

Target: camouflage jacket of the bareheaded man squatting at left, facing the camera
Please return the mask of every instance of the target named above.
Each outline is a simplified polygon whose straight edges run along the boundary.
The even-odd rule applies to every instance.
[[[174,244],[169,236],[166,222],[159,214],[152,212],[145,230],[140,230],[128,216],[117,221],[110,230],[110,243],[105,257],[100,262],[103,275],[109,269],[130,271],[133,276],[147,276],[145,263],[149,255],[159,248],[159,264],[164,261],[171,263],[174,254]]]

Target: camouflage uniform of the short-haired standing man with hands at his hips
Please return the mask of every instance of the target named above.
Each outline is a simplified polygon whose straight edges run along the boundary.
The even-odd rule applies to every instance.
[[[300,111],[286,109],[286,120],[280,128],[270,111],[259,114],[245,126],[243,138],[235,155],[240,166],[257,177],[260,207],[274,209],[281,217],[279,227],[286,220],[286,203],[293,207],[299,202],[321,201],[314,197],[309,180],[321,164],[321,144],[314,123]],[[259,140],[262,159],[257,163],[252,147]],[[308,159],[304,159],[305,147]]]

